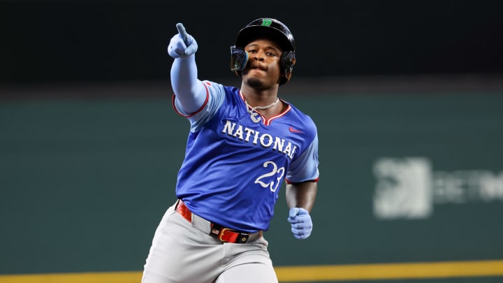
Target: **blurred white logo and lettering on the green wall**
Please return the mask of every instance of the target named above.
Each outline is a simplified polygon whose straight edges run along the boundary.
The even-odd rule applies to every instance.
[[[503,171],[434,171],[426,157],[383,157],[373,173],[377,219],[425,219],[435,205],[503,201]]]

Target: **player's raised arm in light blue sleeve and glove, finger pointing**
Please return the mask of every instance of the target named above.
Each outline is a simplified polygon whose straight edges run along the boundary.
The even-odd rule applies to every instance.
[[[187,34],[182,23],[176,25],[178,34],[171,38],[168,54],[173,57],[171,66],[171,86],[175,92],[175,103],[185,113],[194,113],[203,106],[206,100],[206,90],[201,80],[198,80],[196,66],[196,39]]]

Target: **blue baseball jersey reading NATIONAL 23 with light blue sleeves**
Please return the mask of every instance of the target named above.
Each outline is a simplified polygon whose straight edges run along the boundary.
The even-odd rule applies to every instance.
[[[177,198],[196,215],[238,231],[267,231],[280,187],[317,181],[318,136],[312,119],[290,103],[254,122],[240,89],[204,81],[206,102],[187,117],[191,129],[178,172]]]

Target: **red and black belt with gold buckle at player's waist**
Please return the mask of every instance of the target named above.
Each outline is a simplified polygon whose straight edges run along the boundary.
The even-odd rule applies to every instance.
[[[188,222],[192,222],[192,212],[187,208],[187,205],[182,200],[179,200],[176,208],[176,212],[178,212],[182,217],[187,219]],[[248,242],[249,236],[255,233],[245,233],[240,231],[235,231],[231,228],[225,228],[218,224],[211,223],[211,231],[210,235],[215,238],[221,240],[222,242],[234,242],[239,244],[244,244]],[[262,231],[257,232],[259,235],[262,235]]]

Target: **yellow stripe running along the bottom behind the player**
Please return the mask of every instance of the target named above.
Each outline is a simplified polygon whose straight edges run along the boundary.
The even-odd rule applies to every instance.
[[[379,263],[333,266],[279,266],[279,282],[435,279],[503,276],[503,260]],[[0,275],[0,283],[140,283],[140,271]]]

